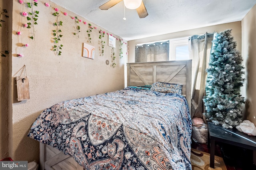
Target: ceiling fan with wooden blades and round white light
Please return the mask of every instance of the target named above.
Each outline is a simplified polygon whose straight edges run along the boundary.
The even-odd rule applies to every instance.
[[[100,6],[100,9],[108,10],[109,8],[118,4],[121,1],[122,0],[110,0],[110,1],[106,2],[105,4],[103,4],[102,6]],[[148,16],[148,12],[147,12],[146,7],[144,6],[144,3],[142,2],[142,0],[124,0],[124,5],[128,9],[136,9],[140,18],[145,18],[146,16]]]

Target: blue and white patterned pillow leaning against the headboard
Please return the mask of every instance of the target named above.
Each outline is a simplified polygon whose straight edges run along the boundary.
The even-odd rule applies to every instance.
[[[169,84],[169,83],[162,83],[156,82],[152,84],[150,90],[158,91],[161,93],[176,93],[181,95],[182,93],[182,84]]]

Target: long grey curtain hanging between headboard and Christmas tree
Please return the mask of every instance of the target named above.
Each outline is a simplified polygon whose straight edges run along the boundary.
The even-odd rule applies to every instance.
[[[191,36],[188,40],[190,59],[192,59],[192,118],[204,118],[202,113],[204,113],[203,97],[207,76],[206,68],[209,65],[213,37],[214,33],[207,34],[206,32],[201,36]]]

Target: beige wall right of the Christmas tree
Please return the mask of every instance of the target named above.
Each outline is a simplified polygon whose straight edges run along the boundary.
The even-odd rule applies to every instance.
[[[246,115],[256,125],[256,6],[242,20],[242,55],[246,65]],[[256,156],[255,156],[256,158]],[[256,159],[255,159],[256,160]],[[256,162],[256,161],[255,161]]]

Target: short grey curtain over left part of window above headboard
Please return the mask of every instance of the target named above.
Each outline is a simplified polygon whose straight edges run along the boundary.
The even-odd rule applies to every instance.
[[[135,62],[168,61],[169,41],[135,46]]]

